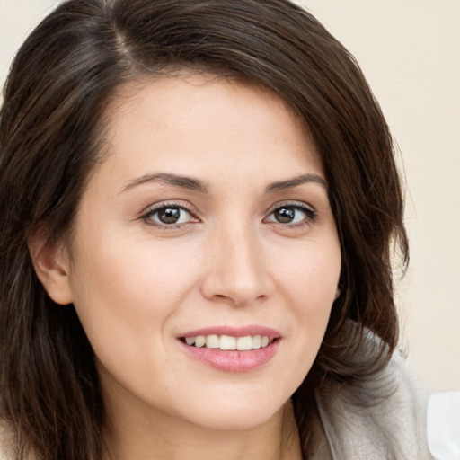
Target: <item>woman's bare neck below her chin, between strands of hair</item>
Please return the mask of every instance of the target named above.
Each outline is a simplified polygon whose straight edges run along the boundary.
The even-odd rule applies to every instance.
[[[262,425],[243,430],[205,429],[164,417],[161,425],[155,420],[109,420],[103,460],[301,459],[290,401]]]

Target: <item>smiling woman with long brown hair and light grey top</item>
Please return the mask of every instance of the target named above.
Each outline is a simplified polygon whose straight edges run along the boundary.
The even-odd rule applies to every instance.
[[[385,119],[287,0],[70,0],[0,119],[12,458],[430,458]]]

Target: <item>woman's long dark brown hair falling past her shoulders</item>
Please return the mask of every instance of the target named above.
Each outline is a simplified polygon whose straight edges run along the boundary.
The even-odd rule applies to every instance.
[[[93,350],[73,305],[54,304],[37,279],[31,229],[55,241],[71,232],[84,183],[103,161],[116,90],[181,68],[269,88],[304,121],[323,161],[341,296],[293,395],[305,458],[314,393],[357,384],[394,350],[393,243],[408,261],[402,190],[392,137],[349,52],[288,0],[70,0],[22,45],[0,112],[1,416],[19,459],[30,448],[48,460],[97,460],[104,418]],[[357,363],[365,330],[381,341]]]

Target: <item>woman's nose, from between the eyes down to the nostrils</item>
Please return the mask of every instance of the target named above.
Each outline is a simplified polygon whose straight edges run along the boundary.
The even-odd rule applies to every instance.
[[[234,226],[208,240],[201,292],[208,300],[251,305],[269,295],[270,278],[261,242],[249,229]]]

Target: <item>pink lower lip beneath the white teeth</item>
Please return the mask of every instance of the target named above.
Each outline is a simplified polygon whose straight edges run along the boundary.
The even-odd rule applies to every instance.
[[[207,349],[206,347],[192,347],[181,341],[185,351],[195,359],[225,372],[249,372],[268,363],[277,352],[279,339],[272,341],[263,349],[247,351]]]

